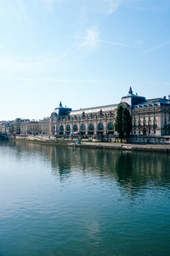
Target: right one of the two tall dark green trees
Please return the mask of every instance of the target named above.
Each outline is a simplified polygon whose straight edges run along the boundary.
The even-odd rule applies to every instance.
[[[127,143],[128,143],[129,135],[130,135],[131,130],[132,130],[132,117],[130,116],[130,112],[127,109],[127,107],[125,107],[123,109],[122,123],[123,123],[123,131],[126,134]]]

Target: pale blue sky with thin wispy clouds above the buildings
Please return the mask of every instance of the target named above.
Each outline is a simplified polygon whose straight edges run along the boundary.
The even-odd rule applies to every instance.
[[[0,120],[170,94],[170,0],[0,0]]]

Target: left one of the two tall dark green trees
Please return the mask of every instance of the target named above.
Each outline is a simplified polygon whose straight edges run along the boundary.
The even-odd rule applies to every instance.
[[[118,133],[118,138],[120,139],[120,142],[122,143],[122,139],[124,138],[124,130],[123,130],[123,107],[121,105],[118,106],[117,112],[116,112],[116,120],[114,123],[115,131]]]

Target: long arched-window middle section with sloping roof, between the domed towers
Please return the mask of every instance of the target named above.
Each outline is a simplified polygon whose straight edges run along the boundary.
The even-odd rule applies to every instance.
[[[52,134],[69,136],[113,136],[118,105],[85,108],[71,111],[67,116],[51,118]],[[62,107],[62,106],[60,106]],[[51,115],[54,117],[54,113]]]

